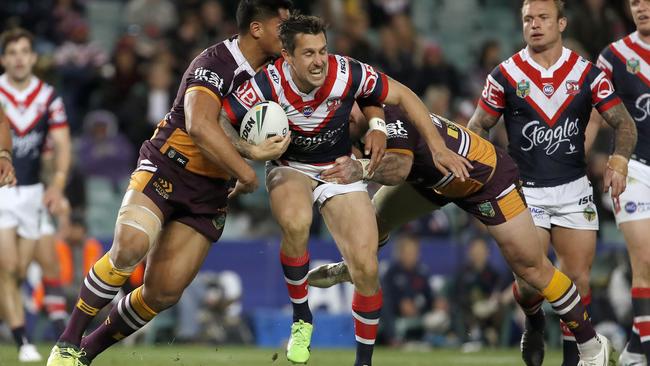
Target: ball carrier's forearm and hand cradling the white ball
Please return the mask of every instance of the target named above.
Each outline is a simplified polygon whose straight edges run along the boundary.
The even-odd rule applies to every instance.
[[[221,110],[219,115],[219,124],[226,133],[230,142],[232,142],[235,149],[246,159],[251,160],[275,160],[282,156],[291,142],[291,132],[286,136],[272,136],[264,140],[259,145],[249,144],[246,140],[239,136],[237,130],[233,127],[233,121],[230,120],[225,110]]]

